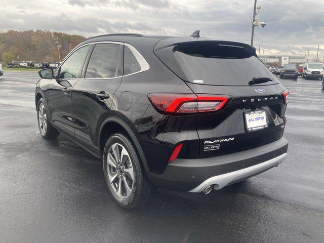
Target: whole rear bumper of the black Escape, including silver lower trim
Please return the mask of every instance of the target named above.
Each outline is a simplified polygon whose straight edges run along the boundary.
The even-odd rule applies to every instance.
[[[149,173],[150,181],[173,190],[200,192],[214,185],[221,189],[277,167],[285,159],[288,141],[281,139],[245,151],[209,158],[175,159],[163,174]]]

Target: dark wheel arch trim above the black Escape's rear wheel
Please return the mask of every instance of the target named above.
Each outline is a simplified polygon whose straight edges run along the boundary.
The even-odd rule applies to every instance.
[[[148,173],[149,168],[139,140],[137,139],[131,127],[124,120],[122,120],[117,116],[110,116],[106,118],[100,127],[99,136],[98,136],[98,147],[100,149],[100,153],[103,154],[103,148],[105,146],[108,137],[115,132],[124,132],[132,139],[138,151],[138,154],[141,158],[145,172]]]

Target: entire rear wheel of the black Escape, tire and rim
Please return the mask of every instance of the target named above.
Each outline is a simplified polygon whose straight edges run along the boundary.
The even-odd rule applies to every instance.
[[[120,207],[140,207],[154,192],[132,141],[124,134],[115,133],[107,140],[103,173],[109,192]]]

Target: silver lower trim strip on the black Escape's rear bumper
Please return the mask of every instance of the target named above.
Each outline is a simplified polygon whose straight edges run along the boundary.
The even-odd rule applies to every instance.
[[[241,169],[238,171],[233,171],[233,172],[226,173],[223,175],[211,177],[189,192],[201,192],[206,187],[208,187],[210,185],[214,185],[214,189],[216,189],[216,190],[221,189],[224,186],[231,184],[232,182],[248,178],[250,176],[253,176],[255,174],[258,174],[260,172],[268,170],[272,167],[279,166],[282,163],[282,161],[284,161],[286,156],[287,156],[287,153],[283,153],[275,158],[267,160],[267,161],[260,163],[258,165],[251,166],[251,167]]]

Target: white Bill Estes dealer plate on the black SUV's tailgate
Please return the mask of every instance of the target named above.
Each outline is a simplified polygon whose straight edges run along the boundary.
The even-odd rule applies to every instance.
[[[256,110],[244,113],[245,127],[248,132],[259,131],[268,127],[265,110]]]

